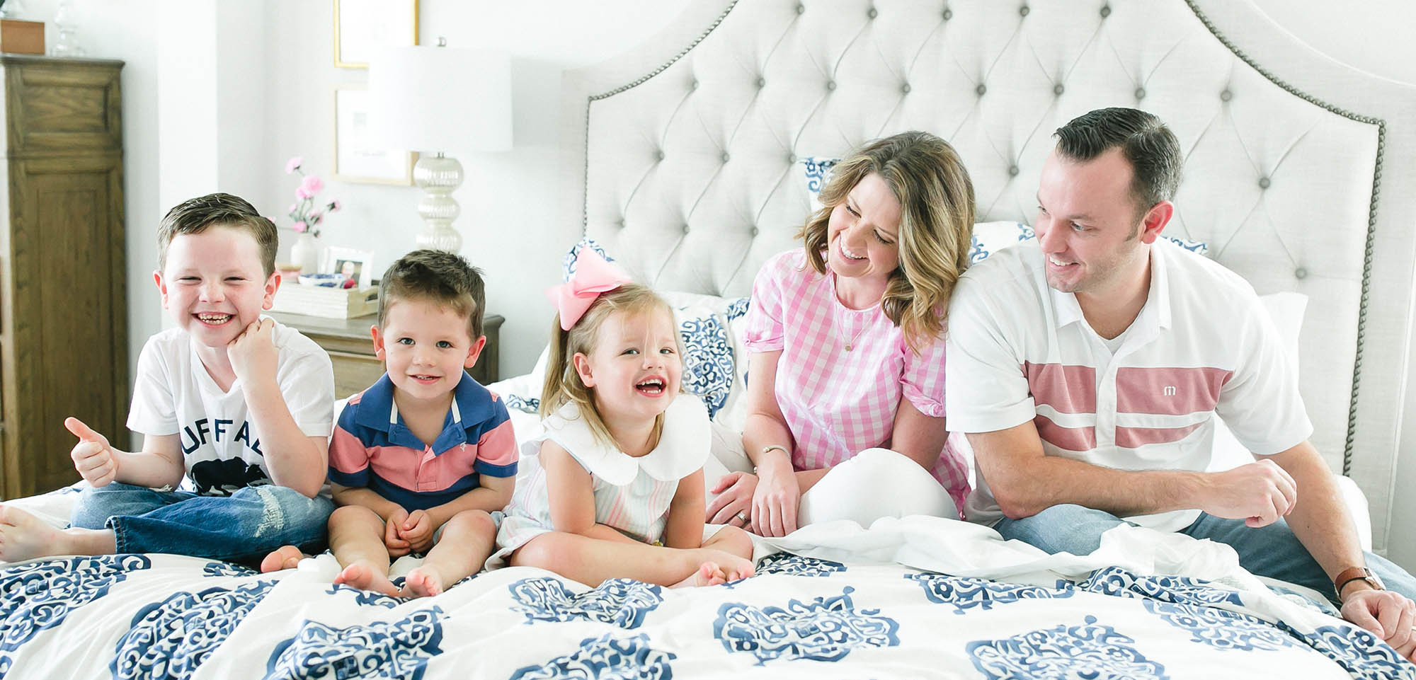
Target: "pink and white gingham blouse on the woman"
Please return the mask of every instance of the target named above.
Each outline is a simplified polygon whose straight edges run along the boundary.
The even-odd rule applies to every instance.
[[[796,439],[797,470],[889,448],[902,395],[925,415],[944,415],[943,339],[916,354],[879,305],[861,310],[841,305],[835,276],[816,273],[800,248],[762,265],[746,323],[748,351],[782,350],[775,391]],[[946,445],[930,472],[954,507],[964,507],[963,456]]]

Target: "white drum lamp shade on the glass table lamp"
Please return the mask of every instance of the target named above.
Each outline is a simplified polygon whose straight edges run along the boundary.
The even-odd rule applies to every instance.
[[[389,47],[368,62],[370,135],[408,152],[511,149],[511,58],[489,50]]]

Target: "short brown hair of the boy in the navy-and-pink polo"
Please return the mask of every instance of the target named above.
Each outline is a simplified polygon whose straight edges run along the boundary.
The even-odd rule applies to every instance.
[[[378,282],[378,327],[388,323],[388,309],[399,300],[426,300],[449,306],[467,317],[472,340],[481,337],[487,305],[481,271],[447,251],[413,251],[389,265]]]

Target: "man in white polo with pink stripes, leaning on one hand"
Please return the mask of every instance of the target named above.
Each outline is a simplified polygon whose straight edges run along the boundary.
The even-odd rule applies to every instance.
[[[1416,659],[1416,579],[1361,550],[1253,288],[1157,241],[1180,142],[1120,108],[1056,137],[1037,245],[970,268],[949,307],[949,425],[978,469],[966,517],[1049,552],[1121,523],[1225,543]],[[1206,472],[1216,414],[1257,462]]]

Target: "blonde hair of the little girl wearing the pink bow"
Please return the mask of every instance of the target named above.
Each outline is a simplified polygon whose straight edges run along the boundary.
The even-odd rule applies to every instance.
[[[551,356],[545,367],[545,385],[541,388],[539,408],[541,418],[545,418],[562,405],[573,402],[581,407],[581,415],[585,416],[585,422],[590,426],[595,438],[616,448],[619,448],[619,442],[610,436],[609,428],[605,426],[605,419],[600,416],[599,409],[595,408],[595,394],[592,388],[585,387],[585,382],[581,381],[581,374],[575,371],[573,358],[576,354],[589,356],[595,351],[600,326],[617,312],[630,314],[663,312],[668,314],[670,323],[674,319],[674,310],[668,307],[668,303],[651,288],[639,283],[624,283],[615,290],[600,293],[590,303],[590,309],[586,309],[585,314],[575,322],[575,326],[571,326],[571,330],[561,330],[561,314],[555,314],[555,319],[551,322]],[[675,329],[674,351],[678,357],[683,357],[683,343],[678,340]],[[658,414],[654,419],[654,441],[658,441],[663,429],[664,414]]]

